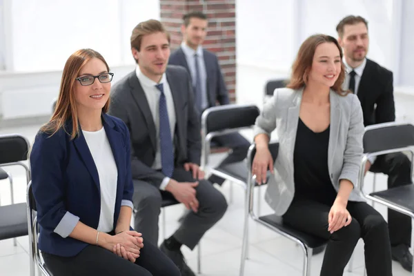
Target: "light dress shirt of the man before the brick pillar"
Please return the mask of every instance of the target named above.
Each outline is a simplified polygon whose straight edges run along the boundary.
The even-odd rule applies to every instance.
[[[203,48],[198,46],[197,50],[190,48],[184,41],[181,43],[181,49],[186,56],[188,68],[190,69],[191,81],[193,82],[193,88],[197,81],[197,75],[195,73],[195,57],[197,54],[197,61],[199,64],[199,74],[201,79],[201,110],[208,108],[208,97],[207,97],[207,70],[206,63],[204,63]]]

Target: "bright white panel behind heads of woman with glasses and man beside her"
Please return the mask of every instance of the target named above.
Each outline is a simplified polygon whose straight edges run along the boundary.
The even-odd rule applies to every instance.
[[[12,70],[61,70],[80,48],[111,66],[134,63],[128,41],[139,21],[159,19],[158,0],[4,0],[11,4]]]

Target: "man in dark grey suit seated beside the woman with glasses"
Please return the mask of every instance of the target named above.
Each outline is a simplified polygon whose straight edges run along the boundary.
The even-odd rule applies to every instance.
[[[170,37],[157,20],[139,23],[131,36],[137,68],[113,88],[110,114],[130,130],[135,193],[135,229],[152,244],[158,241],[158,217],[164,197],[191,209],[178,230],[160,246],[181,270],[194,275],[181,254],[193,249],[224,215],[224,196],[204,180],[199,168],[201,137],[190,76],[167,66]]]

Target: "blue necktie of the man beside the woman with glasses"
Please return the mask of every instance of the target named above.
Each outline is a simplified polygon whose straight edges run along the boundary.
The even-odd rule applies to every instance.
[[[161,171],[166,177],[174,172],[174,148],[172,146],[170,120],[168,119],[166,95],[162,83],[156,85],[161,92],[159,96],[159,144],[161,146]]]

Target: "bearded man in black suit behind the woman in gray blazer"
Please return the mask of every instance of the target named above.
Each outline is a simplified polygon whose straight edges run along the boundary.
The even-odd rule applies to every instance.
[[[361,101],[364,125],[395,121],[393,72],[366,59],[368,23],[362,17],[348,16],[337,25],[339,44],[344,49],[346,79],[344,88]],[[411,183],[411,162],[403,153],[382,155],[366,162],[365,172],[388,175],[388,188]],[[411,271],[411,218],[388,209],[388,230],[393,259]]]

